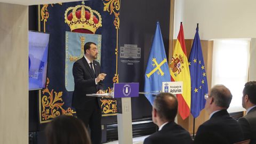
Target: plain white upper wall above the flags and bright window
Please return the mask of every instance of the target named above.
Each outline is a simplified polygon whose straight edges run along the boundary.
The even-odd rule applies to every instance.
[[[201,39],[256,37],[255,0],[176,0],[174,38],[183,20],[185,39],[193,39],[199,23]]]

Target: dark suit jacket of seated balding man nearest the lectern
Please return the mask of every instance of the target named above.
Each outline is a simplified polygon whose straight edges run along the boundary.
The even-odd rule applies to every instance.
[[[180,125],[169,122],[163,126],[162,130],[153,133],[143,142],[144,144],[165,144],[165,143],[192,143],[190,134]]]

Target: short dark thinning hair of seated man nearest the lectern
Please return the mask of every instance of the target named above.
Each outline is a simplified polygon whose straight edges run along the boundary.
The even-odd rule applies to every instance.
[[[172,99],[170,99],[172,98]],[[154,108],[159,117],[166,121],[174,121],[178,111],[178,100],[171,93],[160,93],[154,100]]]

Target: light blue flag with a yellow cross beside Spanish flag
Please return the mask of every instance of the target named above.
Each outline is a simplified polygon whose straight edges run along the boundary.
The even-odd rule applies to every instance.
[[[156,31],[151,45],[151,51],[148,58],[147,69],[145,73],[145,94],[151,105],[153,105],[153,93],[162,91],[162,82],[170,82],[171,75],[164,50],[164,43],[161,34],[159,22],[156,22]]]

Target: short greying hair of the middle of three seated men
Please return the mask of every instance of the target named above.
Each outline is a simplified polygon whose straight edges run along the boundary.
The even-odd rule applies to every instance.
[[[232,100],[232,94],[224,85],[215,85],[211,90],[210,97],[213,97],[216,106],[228,108]]]

